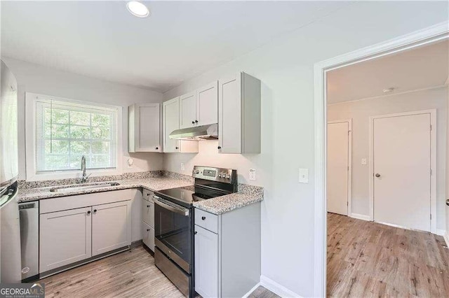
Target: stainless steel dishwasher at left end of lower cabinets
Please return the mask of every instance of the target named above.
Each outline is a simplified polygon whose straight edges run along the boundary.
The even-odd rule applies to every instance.
[[[19,204],[22,282],[39,279],[39,201]]]

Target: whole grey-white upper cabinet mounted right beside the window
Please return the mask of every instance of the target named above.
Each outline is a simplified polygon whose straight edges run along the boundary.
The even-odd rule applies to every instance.
[[[162,152],[159,104],[128,107],[128,152]]]

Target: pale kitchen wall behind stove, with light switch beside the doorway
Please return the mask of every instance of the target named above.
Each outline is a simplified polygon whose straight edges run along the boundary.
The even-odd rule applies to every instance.
[[[262,153],[217,162],[236,166],[246,180],[253,167],[254,183],[265,187],[263,276],[314,295],[314,64],[443,22],[447,11],[445,2],[354,2],[163,94],[168,100],[235,71],[262,80]],[[215,156],[203,147],[200,155]],[[192,158],[172,153],[164,164],[176,170]],[[300,167],[310,169],[309,184],[297,182]]]

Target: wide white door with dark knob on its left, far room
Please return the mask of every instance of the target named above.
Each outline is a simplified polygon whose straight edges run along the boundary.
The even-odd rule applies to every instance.
[[[431,115],[373,119],[374,220],[430,231]]]

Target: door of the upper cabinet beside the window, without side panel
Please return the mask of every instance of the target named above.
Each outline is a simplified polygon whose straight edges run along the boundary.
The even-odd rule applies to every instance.
[[[135,152],[161,152],[159,104],[136,104]]]

